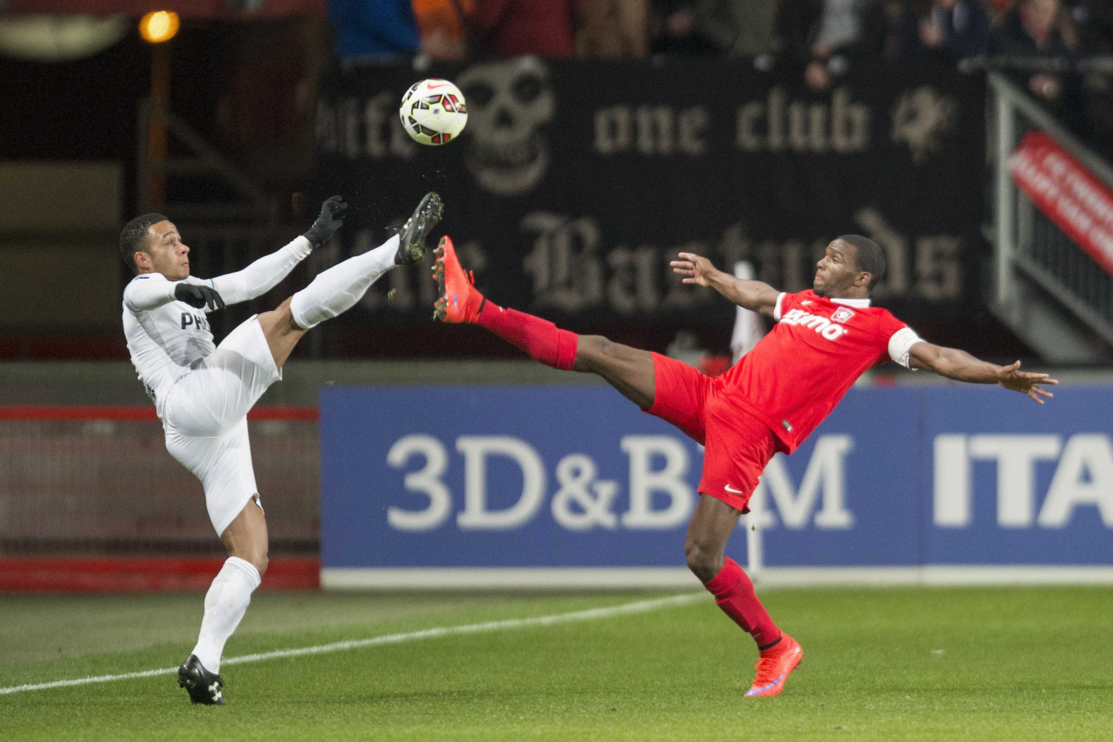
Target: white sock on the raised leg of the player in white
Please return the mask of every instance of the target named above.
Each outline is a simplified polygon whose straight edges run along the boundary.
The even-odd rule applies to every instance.
[[[294,321],[311,329],[351,309],[380,276],[394,267],[397,251],[398,236],[395,235],[375,249],[317,274],[289,303]]]

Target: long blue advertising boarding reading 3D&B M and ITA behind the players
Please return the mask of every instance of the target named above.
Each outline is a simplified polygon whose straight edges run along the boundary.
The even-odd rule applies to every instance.
[[[1107,578],[1111,409],[1105,386],[1045,406],[997,387],[854,388],[769,464],[728,553],[788,582]],[[702,449],[609,387],[325,387],[321,454],[325,586],[695,584]]]

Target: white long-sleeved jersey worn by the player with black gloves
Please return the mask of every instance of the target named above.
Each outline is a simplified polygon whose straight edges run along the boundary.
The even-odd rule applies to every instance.
[[[276,286],[312,249],[309,240],[298,237],[240,271],[213,279],[171,281],[156,273],[131,279],[124,289],[124,334],[131,364],[159,417],[170,386],[216,350],[206,310],[178,301],[177,285],[210,286],[229,305],[247,301]]]

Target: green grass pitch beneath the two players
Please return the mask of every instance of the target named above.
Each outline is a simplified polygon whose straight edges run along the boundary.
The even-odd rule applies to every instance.
[[[661,596],[258,593],[225,656]],[[707,596],[640,614],[0,695],[0,740],[1113,740],[1113,590],[779,590],[776,699]],[[199,594],[0,596],[0,687],[176,665]]]

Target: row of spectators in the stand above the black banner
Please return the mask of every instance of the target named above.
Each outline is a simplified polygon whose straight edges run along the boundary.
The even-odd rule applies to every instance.
[[[816,90],[886,59],[1113,53],[1110,0],[329,0],[328,12],[347,60],[718,56],[798,66]],[[1012,77],[1072,127],[1113,133],[1110,76]]]

